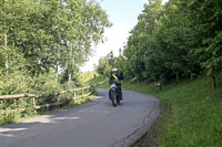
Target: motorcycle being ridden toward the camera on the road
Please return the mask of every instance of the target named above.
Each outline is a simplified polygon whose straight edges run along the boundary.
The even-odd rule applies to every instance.
[[[111,87],[109,92],[110,101],[112,102],[112,105],[115,107],[117,105],[120,105],[120,93],[118,92],[118,87],[115,85],[117,81],[113,80],[110,82]]]

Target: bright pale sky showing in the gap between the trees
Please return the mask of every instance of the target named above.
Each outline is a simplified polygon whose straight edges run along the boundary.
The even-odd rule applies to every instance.
[[[93,64],[99,64],[99,59],[113,51],[114,56],[119,55],[119,49],[127,44],[129,32],[137,25],[138,15],[142,12],[148,0],[97,0],[107,12],[112,27],[105,29],[105,42],[100,43],[94,49],[93,56],[90,57],[80,70],[81,72],[93,71]],[[168,0],[163,0],[165,2]]]

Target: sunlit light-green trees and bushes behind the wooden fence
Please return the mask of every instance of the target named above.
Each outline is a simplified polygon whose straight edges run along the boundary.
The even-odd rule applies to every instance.
[[[0,0],[0,95],[78,86],[110,25],[93,0]]]

